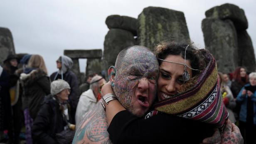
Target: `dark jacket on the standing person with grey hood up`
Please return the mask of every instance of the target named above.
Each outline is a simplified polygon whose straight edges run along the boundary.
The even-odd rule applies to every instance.
[[[57,79],[61,79],[61,75],[58,74],[57,77],[54,79],[58,72],[54,72],[51,74],[50,79],[51,81],[55,81]],[[63,74],[63,79],[69,83],[69,86],[71,88],[70,95],[69,95],[69,105],[71,106],[71,124],[75,124],[75,114],[76,114],[76,106],[79,101],[79,87],[78,87],[78,81],[76,78],[76,75],[70,71],[67,70],[66,73]]]

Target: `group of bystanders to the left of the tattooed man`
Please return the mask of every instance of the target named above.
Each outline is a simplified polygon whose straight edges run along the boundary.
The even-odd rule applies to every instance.
[[[25,129],[22,138],[27,144],[72,142],[76,121],[82,119],[85,109],[94,105],[86,102],[85,108],[84,102],[79,102],[80,90],[71,71],[72,59],[60,56],[56,63],[58,71],[49,76],[44,59],[38,54],[25,55],[22,59],[12,54],[7,56],[0,66],[0,142],[20,144],[22,128]],[[86,80],[81,89],[84,92],[90,89],[93,93],[89,98],[96,103],[98,88],[106,81],[96,73],[89,74]],[[94,94],[97,97],[91,97]],[[81,106],[77,107],[79,103]]]

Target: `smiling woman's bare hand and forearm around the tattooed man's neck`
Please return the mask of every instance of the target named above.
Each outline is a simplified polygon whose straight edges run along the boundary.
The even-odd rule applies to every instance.
[[[105,85],[103,85],[101,89],[101,95],[104,96],[108,93],[114,93],[113,89],[111,87],[111,83],[108,82]],[[122,110],[126,110],[118,100],[111,100],[108,102],[108,104],[105,103],[104,100],[102,100],[102,103],[104,103],[106,107],[106,115],[107,115],[107,121],[108,121],[108,126],[110,125],[111,121],[113,120],[113,117],[118,113],[121,112]]]

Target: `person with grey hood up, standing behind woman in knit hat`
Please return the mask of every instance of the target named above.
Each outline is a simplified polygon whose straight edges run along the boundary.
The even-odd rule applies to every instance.
[[[71,71],[73,66],[73,61],[68,56],[60,56],[56,61],[57,68],[59,71],[51,74],[51,81],[55,81],[57,79],[65,80],[70,85],[70,95],[69,95],[69,105],[71,106],[71,120],[72,124],[75,124],[75,114],[76,114],[76,106],[79,100],[79,87],[76,75]]]

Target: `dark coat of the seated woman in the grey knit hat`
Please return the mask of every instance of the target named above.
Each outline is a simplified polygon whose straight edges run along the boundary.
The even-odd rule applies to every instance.
[[[70,117],[70,115],[69,115]],[[60,105],[52,95],[46,96],[32,126],[32,138],[36,144],[57,144],[56,134],[67,125]]]

